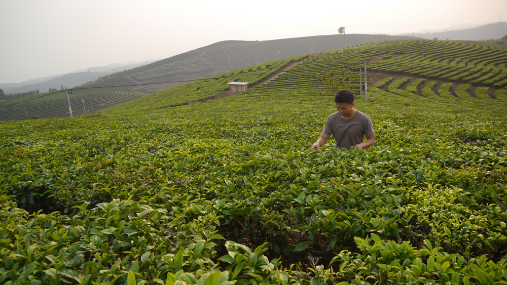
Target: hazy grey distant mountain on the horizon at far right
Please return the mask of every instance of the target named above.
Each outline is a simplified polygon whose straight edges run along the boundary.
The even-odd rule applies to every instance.
[[[449,39],[449,40],[486,40],[498,39],[507,34],[507,23],[498,22],[483,25],[471,29],[456,29],[441,32],[406,33],[403,36],[415,36],[426,39]]]

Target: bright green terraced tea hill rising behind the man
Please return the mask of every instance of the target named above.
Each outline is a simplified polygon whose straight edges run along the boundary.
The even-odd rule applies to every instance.
[[[321,62],[318,68],[315,67],[317,64],[313,63],[314,61]],[[494,94],[496,90],[507,86],[507,68],[505,67],[507,47],[441,40],[394,40],[350,48],[347,54],[341,54],[340,51],[323,53],[318,57],[308,58],[302,64],[287,70],[283,77],[298,72],[295,70],[303,69],[305,71],[299,71],[300,73],[293,75],[294,80],[284,80],[282,86],[300,89],[301,84],[305,83],[318,89],[317,82],[312,78],[311,73],[324,73],[338,68],[354,71],[353,74],[359,81],[357,71],[365,61],[368,62],[367,68],[371,84],[376,84],[377,80],[386,77],[406,78],[405,80],[411,82],[417,79],[414,83],[417,84],[415,86],[417,95],[421,95],[423,86],[430,82],[433,84],[434,90],[438,90],[441,86],[448,86],[452,87],[451,92],[454,92],[459,86],[463,86],[463,88],[468,86],[467,90],[479,88]],[[307,64],[312,67],[305,68]],[[198,80],[191,84],[110,107],[103,110],[103,113],[157,109],[211,98],[227,90],[228,87],[225,83],[231,81],[248,82],[252,79],[252,74],[264,74],[259,72],[266,72],[266,70],[261,70],[261,66],[251,66],[234,72],[222,73],[205,80]],[[256,82],[254,80],[252,83]],[[220,83],[222,89],[214,90],[214,93],[206,92],[211,90],[207,88],[208,86]],[[273,80],[273,82],[259,88],[266,89],[268,86],[279,87],[276,80]]]

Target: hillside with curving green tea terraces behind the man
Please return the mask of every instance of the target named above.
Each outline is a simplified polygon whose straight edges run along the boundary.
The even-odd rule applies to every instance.
[[[465,99],[469,103],[474,103],[476,102],[474,99],[501,99],[501,94],[507,86],[507,68],[505,67],[507,47],[440,40],[394,40],[360,45],[350,48],[347,54],[342,54],[340,50],[337,50],[309,57],[303,63],[292,67],[255,90],[257,93],[271,93],[283,88],[314,94],[319,89],[319,84],[313,79],[312,74],[345,68],[354,74],[357,83],[354,91],[359,94],[364,91],[359,90],[358,72],[360,66],[364,68],[365,62],[370,86],[411,99],[424,97],[446,102]],[[256,71],[258,68],[256,66],[237,70],[234,73],[238,76],[228,78],[248,81],[249,73],[247,72]],[[226,76],[230,76],[230,73],[219,74],[215,77]],[[177,97],[176,94],[179,94],[180,89],[170,89],[143,97],[142,100],[138,99],[126,105],[106,109],[104,112],[136,111],[137,102],[149,109],[180,105],[213,97],[227,88],[224,86],[223,90],[216,93],[194,92],[190,89],[192,86],[195,90],[200,90],[201,85],[202,83],[195,82],[188,87],[180,88],[188,96],[187,100]]]

